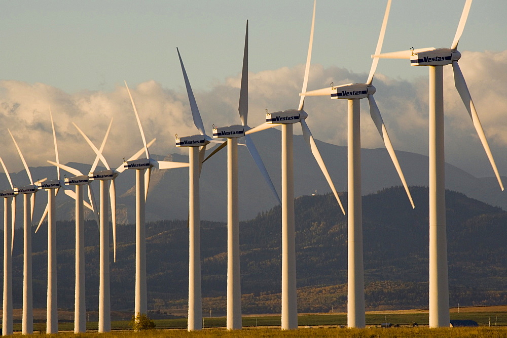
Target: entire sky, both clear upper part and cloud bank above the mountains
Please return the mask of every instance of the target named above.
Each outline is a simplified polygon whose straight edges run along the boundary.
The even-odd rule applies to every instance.
[[[386,1],[318,1],[308,90],[364,82]],[[450,47],[464,1],[394,0],[383,52]],[[141,146],[123,81],[131,88],[153,152],[186,153],[174,135],[195,134],[182,53],[208,132],[239,123],[240,70],[249,20],[249,124],[299,102],[312,1],[0,1],[0,150],[9,171],[22,164],[10,128],[30,166],[54,158],[49,106],[60,160],[93,161],[71,122],[98,144],[114,117],[104,154],[120,165]],[[507,38],[504,0],[477,1],[459,44],[459,62],[500,174],[507,175]],[[472,122],[445,70],[446,160],[478,177],[493,176]],[[427,67],[381,60],[375,98],[396,150],[427,154]],[[316,139],[346,145],[345,102],[308,98],[307,122]],[[366,102],[363,147],[382,147]],[[296,134],[301,134],[295,128]],[[262,155],[262,154],[261,154]],[[324,159],[325,160],[325,159]],[[410,183],[409,183],[410,184]]]

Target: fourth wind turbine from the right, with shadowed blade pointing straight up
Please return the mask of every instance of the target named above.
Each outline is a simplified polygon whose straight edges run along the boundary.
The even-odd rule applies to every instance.
[[[241,329],[241,273],[239,262],[239,193],[238,193],[238,138],[245,137],[250,152],[265,181],[281,204],[278,193],[250,135],[248,118],[248,21],[246,21],[245,47],[239,95],[241,125],[213,128],[213,138],[227,138],[227,143],[217,147],[212,154],[227,145],[227,329]],[[208,156],[208,157],[209,157]]]

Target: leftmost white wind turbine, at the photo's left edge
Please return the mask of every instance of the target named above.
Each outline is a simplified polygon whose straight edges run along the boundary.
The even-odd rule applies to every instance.
[[[2,335],[10,335],[13,333],[12,329],[12,233],[14,232],[14,219],[15,214],[11,209],[14,204],[15,192],[14,186],[11,181],[11,176],[7,171],[4,160],[0,157],[0,163],[4,168],[5,175],[9,180],[11,189],[0,191],[0,197],[4,198],[4,301],[2,307]],[[11,201],[12,198],[12,201]]]

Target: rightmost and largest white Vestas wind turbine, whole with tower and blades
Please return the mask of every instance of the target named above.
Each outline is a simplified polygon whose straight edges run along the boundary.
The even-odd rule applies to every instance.
[[[381,58],[410,59],[411,66],[429,66],[429,326],[449,326],[449,278],[447,271],[447,238],[445,217],[444,155],[444,72],[452,64],[454,86],[463,101],[479,139],[486,151],[498,184],[503,184],[495,160],[482,129],[479,115],[458,65],[461,54],[458,43],[465,28],[472,0],[467,0],[461,13],[451,48],[420,48],[381,54]],[[377,54],[377,53],[376,53]]]

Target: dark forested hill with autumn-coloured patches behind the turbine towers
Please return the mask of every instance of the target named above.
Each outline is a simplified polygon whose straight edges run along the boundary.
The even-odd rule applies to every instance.
[[[363,197],[366,304],[369,309],[428,305],[428,189],[403,188]],[[340,196],[344,205],[347,195]],[[507,213],[446,191],[451,306],[507,304]],[[346,307],[347,217],[333,195],[295,201],[298,304],[300,311]],[[205,218],[205,215],[203,215]],[[186,220],[149,223],[147,229],[149,308],[184,308],[188,296]],[[134,304],[134,225],[118,228],[117,262],[111,264],[112,308]],[[86,302],[98,307],[98,229],[86,223]],[[111,236],[112,238],[112,236]],[[34,306],[45,307],[47,226],[33,234]],[[202,290],[205,308],[225,311],[227,227],[201,224]],[[74,306],[74,222],[57,224],[58,307]],[[280,311],[281,209],[276,206],[240,224],[244,313]],[[111,248],[112,249],[112,248]],[[14,249],[14,304],[22,291],[22,235]],[[113,257],[111,255],[111,257]]]

